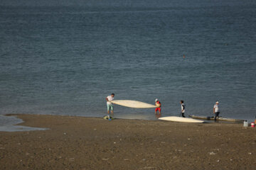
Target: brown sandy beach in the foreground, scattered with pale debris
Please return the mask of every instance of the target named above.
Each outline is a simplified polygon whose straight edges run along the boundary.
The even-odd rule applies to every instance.
[[[17,115],[0,169],[255,169],[256,128],[228,123]]]

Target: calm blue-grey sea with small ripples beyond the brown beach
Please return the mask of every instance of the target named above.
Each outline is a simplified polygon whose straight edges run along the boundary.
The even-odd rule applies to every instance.
[[[256,1],[7,1],[0,6],[0,114],[106,115],[106,96],[162,116],[255,119]],[[183,57],[185,55],[185,58]],[[154,109],[114,107],[154,120]],[[0,117],[1,118],[1,117]]]

